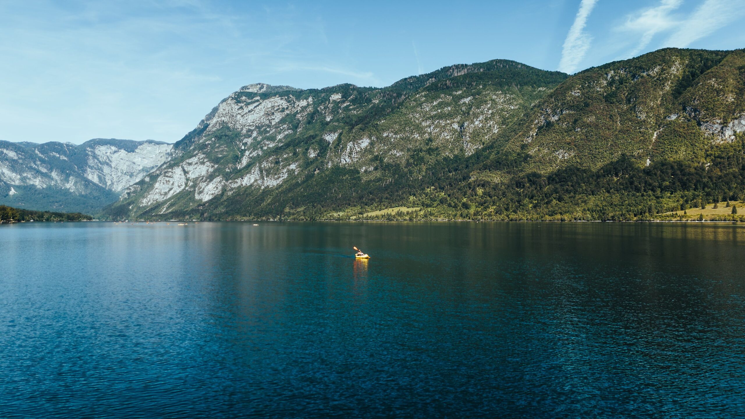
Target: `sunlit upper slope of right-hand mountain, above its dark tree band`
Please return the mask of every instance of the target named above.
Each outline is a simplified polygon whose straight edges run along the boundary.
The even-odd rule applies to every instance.
[[[703,161],[711,143],[745,128],[745,52],[665,48],[587,69],[548,95],[507,149],[530,168]]]

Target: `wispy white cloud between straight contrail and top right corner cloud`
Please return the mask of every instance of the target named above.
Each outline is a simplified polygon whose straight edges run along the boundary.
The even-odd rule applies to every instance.
[[[618,27],[619,31],[639,34],[636,46],[628,51],[624,58],[635,57],[647,48],[653,37],[660,32],[668,31],[680,24],[673,12],[680,7],[682,0],[662,0],[656,7],[647,7],[627,16],[626,22]]]

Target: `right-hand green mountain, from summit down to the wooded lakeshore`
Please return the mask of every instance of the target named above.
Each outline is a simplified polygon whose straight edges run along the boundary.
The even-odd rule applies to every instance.
[[[745,198],[745,51],[665,48],[587,69],[521,125],[412,206],[447,218],[686,220],[685,209]]]

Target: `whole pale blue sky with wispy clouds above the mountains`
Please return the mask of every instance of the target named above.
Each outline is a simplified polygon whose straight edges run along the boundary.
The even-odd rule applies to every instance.
[[[0,0],[0,139],[180,139],[263,82],[387,86],[507,58],[577,72],[745,48],[745,0]]]

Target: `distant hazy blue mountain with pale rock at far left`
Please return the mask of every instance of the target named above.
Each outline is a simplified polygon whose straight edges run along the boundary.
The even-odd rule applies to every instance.
[[[81,145],[0,141],[0,204],[99,212],[165,162],[172,148],[128,139],[91,139]]]

